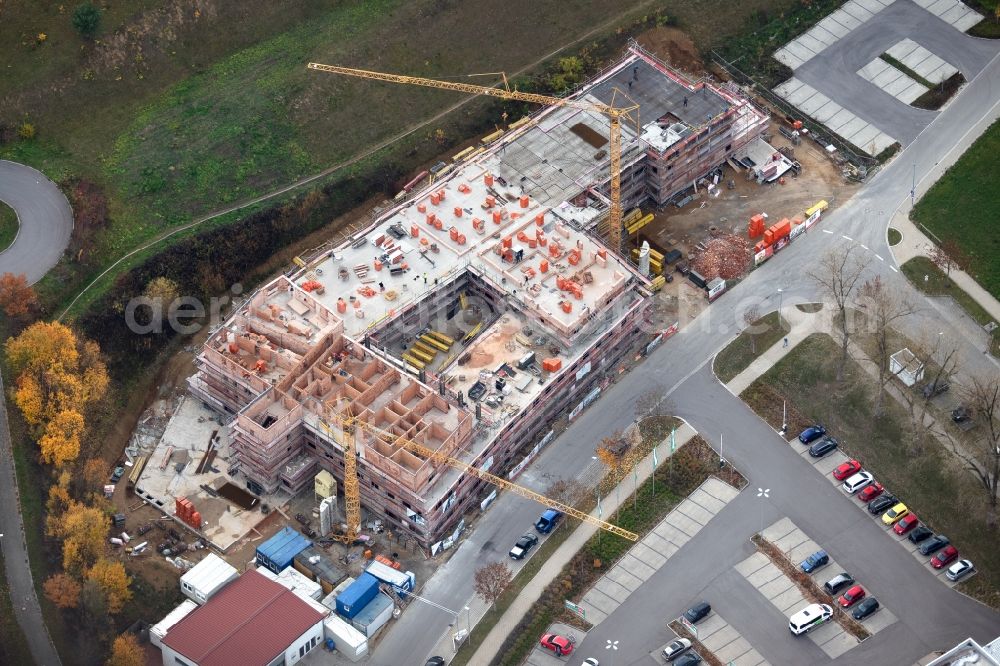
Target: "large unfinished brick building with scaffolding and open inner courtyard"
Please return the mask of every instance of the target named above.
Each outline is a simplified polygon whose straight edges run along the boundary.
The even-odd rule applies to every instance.
[[[623,203],[662,204],[756,139],[767,117],[638,47],[576,96],[640,104],[623,125]],[[645,278],[598,240],[608,120],[549,107],[466,151],[372,225],[254,293],[215,331],[191,391],[234,417],[235,469],[256,493],[343,479],[354,429],[369,515],[430,546],[486,482],[400,446],[507,475],[578,413],[642,326]],[[471,154],[469,154],[471,153]],[[581,442],[579,455],[592,455]]]

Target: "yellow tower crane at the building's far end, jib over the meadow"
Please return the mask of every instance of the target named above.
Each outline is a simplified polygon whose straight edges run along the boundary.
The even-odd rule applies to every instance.
[[[390,83],[406,83],[415,86],[426,86],[428,88],[440,88],[443,90],[455,90],[457,92],[469,93],[472,95],[488,95],[499,97],[500,99],[515,100],[520,102],[530,102],[533,104],[544,104],[551,106],[563,106],[583,111],[594,111],[608,117],[611,122],[610,149],[611,155],[611,212],[608,217],[608,244],[615,253],[621,252],[622,246],[622,192],[621,192],[621,167],[622,167],[622,118],[631,119],[629,115],[639,108],[638,104],[630,103],[626,106],[615,106],[615,98],[621,95],[627,96],[615,89],[612,93],[611,104],[601,104],[587,102],[578,99],[563,99],[560,97],[550,97],[548,95],[538,95],[536,93],[520,92],[511,90],[507,83],[507,77],[503,76],[503,88],[493,88],[490,86],[476,86],[468,83],[457,83],[454,81],[438,81],[436,79],[425,79],[418,76],[403,76],[400,74],[386,74],[383,72],[372,72],[365,69],[352,69],[349,67],[338,67],[336,65],[323,65],[318,62],[311,62],[309,69],[321,72],[331,72],[333,74],[344,74],[362,79],[374,81],[388,81]],[[470,75],[471,76],[471,75]],[[637,123],[638,124],[638,123]]]

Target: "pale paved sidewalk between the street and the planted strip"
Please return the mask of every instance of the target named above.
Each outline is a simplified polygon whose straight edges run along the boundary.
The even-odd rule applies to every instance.
[[[677,430],[677,447],[680,448],[682,445],[686,444],[698,434],[694,428],[685,423],[683,426]],[[666,440],[664,440],[666,441]],[[662,445],[661,445],[661,448]],[[664,457],[670,455],[670,447],[665,447],[665,450],[661,451]],[[638,465],[639,470],[639,483],[641,484],[652,474],[652,455],[647,456]],[[623,502],[627,502],[629,496],[633,492],[633,480],[630,478],[623,479],[619,484],[619,488],[625,490],[625,493],[608,493],[606,497],[601,500],[601,507],[603,513],[606,516],[611,515],[618,508],[618,496],[619,494],[624,495]],[[590,513],[590,515],[596,517],[597,510],[595,509]],[[559,572],[562,571],[563,567],[576,555],[587,541],[590,540],[592,536],[597,532],[599,528],[591,525],[589,523],[581,523],[573,531],[566,541],[556,549],[556,552],[546,560],[542,568],[539,569],[535,577],[528,581],[528,584],[524,586],[521,593],[514,600],[514,603],[504,612],[503,616],[496,623],[490,633],[487,634],[486,638],[480,644],[479,649],[469,660],[470,664],[488,664],[500,651],[503,646],[503,642],[507,639],[507,636],[517,627],[518,623],[524,618],[528,610],[538,601],[541,596],[542,591],[555,580]],[[478,597],[477,597],[478,599]]]

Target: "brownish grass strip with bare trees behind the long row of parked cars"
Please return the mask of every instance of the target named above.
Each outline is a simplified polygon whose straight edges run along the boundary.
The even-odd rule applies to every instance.
[[[789,406],[789,432],[823,423],[865,469],[906,502],[935,531],[946,533],[979,574],[962,585],[994,608],[1000,607],[1000,550],[986,528],[986,502],[971,474],[936,443],[921,453],[909,448],[909,417],[893,398],[887,414],[872,416],[874,380],[849,361],[845,380],[836,381],[836,343],[825,334],[806,338],[742,398],[771,425],[780,427],[782,400]]]

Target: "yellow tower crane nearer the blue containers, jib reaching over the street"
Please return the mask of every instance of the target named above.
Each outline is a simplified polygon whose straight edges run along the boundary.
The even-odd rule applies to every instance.
[[[546,497],[541,493],[528,490],[524,486],[511,483],[507,479],[496,476],[495,474],[490,474],[485,470],[474,467],[466,462],[462,462],[457,458],[452,458],[451,456],[440,453],[439,451],[429,449],[423,444],[418,444],[417,442],[404,437],[398,437],[369,423],[359,421],[356,418],[332,417],[328,420],[337,422],[344,432],[344,436],[342,438],[344,448],[344,514],[347,522],[347,531],[345,534],[335,537],[339,541],[352,543],[354,539],[357,538],[358,532],[361,529],[361,498],[360,488],[358,486],[357,460],[355,459],[355,440],[359,429],[364,430],[372,437],[376,437],[386,444],[395,444],[411,453],[415,453],[416,455],[427,458],[435,463],[448,465],[463,474],[469,474],[471,476],[475,476],[476,478],[483,479],[501,490],[509,490],[517,495],[520,495],[521,497],[534,500],[554,509],[558,509],[568,516],[582,520],[585,523],[599,527],[603,530],[611,532],[612,534],[617,534],[618,536],[624,537],[629,541],[639,540],[639,535],[634,532],[630,532],[626,529],[618,527],[617,525],[612,525],[611,523],[605,522],[599,518],[595,518],[588,513],[584,513],[583,511],[569,506],[568,504],[564,504],[558,500]],[[329,423],[321,419],[320,424],[323,429],[327,431],[327,433],[333,436],[334,430],[331,428]],[[335,440],[340,441],[337,438],[335,438]]]

